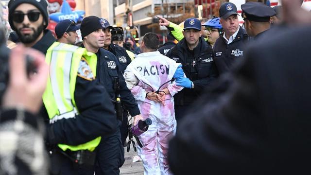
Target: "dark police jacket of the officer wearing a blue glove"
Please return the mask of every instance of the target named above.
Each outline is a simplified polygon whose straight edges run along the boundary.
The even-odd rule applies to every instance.
[[[188,49],[186,39],[183,38],[167,56],[183,65],[186,76],[194,84],[193,89],[184,88],[174,96],[175,105],[190,105],[218,76],[213,52],[203,37],[200,37],[193,51]]]

